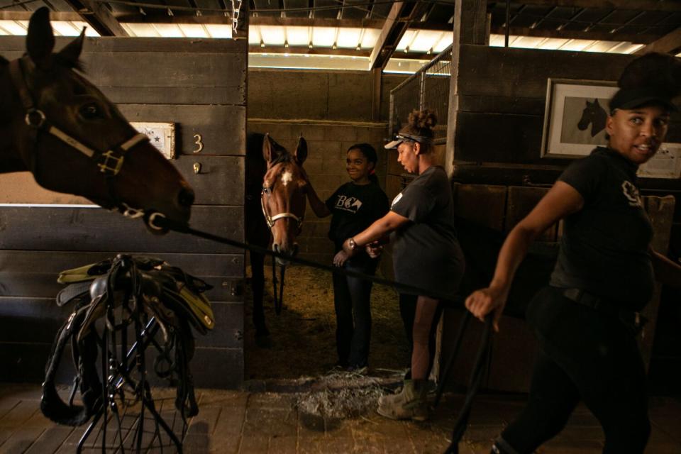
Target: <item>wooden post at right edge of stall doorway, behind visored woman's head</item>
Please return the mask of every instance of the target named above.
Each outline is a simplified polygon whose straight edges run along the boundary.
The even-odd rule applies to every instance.
[[[458,115],[458,82],[460,47],[463,44],[489,44],[489,14],[485,0],[455,0],[454,41],[452,45],[452,75],[449,89],[449,114],[447,124],[447,150],[445,170],[448,175],[454,171],[456,123]]]

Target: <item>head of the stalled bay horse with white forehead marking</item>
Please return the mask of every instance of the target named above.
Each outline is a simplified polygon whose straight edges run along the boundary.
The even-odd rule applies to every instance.
[[[267,161],[267,172],[262,179],[262,214],[272,232],[272,250],[294,256],[298,252],[296,238],[301,231],[305,215],[306,180],[302,170],[307,157],[307,143],[298,140],[294,153],[265,135],[262,156]],[[277,259],[277,262],[282,263]]]

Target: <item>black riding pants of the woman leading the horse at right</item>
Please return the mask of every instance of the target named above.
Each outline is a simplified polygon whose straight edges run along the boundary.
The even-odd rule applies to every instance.
[[[541,350],[528,403],[503,440],[517,453],[533,453],[565,427],[581,400],[603,427],[604,453],[643,453],[650,421],[633,333],[615,316],[580,306],[554,287],[537,294],[527,317]]]

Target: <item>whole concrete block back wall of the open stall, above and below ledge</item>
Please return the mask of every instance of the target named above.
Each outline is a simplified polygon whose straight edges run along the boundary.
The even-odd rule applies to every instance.
[[[344,182],[345,154],[355,143],[370,143],[379,157],[377,175],[385,188],[387,175],[384,139],[388,136],[390,90],[406,76],[384,74],[381,115],[372,121],[372,74],[359,71],[249,70],[248,132],[270,133],[288,150],[302,133],[309,154],[304,164],[323,200]],[[307,208],[299,240],[300,256],[330,263],[330,219],[316,218]]]

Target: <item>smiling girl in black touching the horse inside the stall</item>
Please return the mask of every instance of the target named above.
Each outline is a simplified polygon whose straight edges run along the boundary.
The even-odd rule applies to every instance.
[[[378,262],[376,254],[372,253],[375,255],[372,258],[362,252],[348,260],[341,247],[345,238],[364,230],[388,211],[388,198],[374,173],[376,150],[367,143],[358,143],[348,149],[345,162],[352,181],[336,189],[326,203],[319,199],[308,181],[307,196],[317,216],[332,216],[328,238],[333,241],[336,251],[333,264],[373,275]],[[365,371],[369,365],[371,287],[370,281],[333,274],[338,365],[346,370]]]

